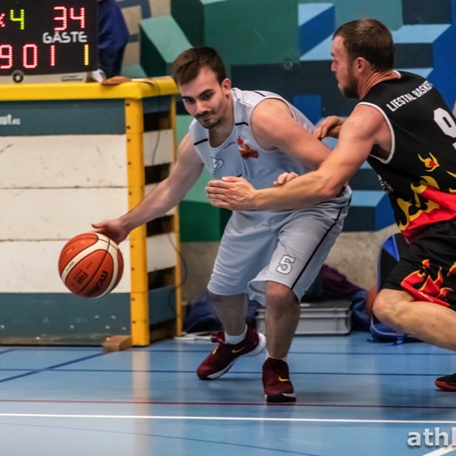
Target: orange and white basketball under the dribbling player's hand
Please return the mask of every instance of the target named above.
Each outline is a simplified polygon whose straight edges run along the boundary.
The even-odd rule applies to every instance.
[[[123,272],[122,252],[103,234],[78,234],[61,249],[61,280],[77,296],[102,297],[110,293],[117,287]]]

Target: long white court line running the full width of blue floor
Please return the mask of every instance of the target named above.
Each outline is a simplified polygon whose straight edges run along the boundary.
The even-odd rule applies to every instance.
[[[60,413],[0,413],[4,418],[83,418],[83,419],[183,419],[211,421],[286,421],[305,423],[379,423],[379,424],[456,424],[456,421],[425,419],[314,419],[314,418],[248,418],[248,417],[191,417],[163,415],[69,415]],[[442,453],[444,454],[444,453]],[[435,456],[432,454],[432,456]]]

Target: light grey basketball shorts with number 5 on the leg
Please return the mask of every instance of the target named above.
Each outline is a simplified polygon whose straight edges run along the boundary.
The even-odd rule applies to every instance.
[[[224,230],[208,290],[248,293],[265,305],[266,281],[286,285],[297,300],[320,272],[342,231],[347,207],[234,212]]]

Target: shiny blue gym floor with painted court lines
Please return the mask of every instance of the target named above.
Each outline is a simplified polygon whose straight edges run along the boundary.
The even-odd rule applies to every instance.
[[[264,356],[221,379],[195,369],[214,347],[179,338],[121,352],[0,346],[0,453],[14,456],[456,455],[456,393],[434,379],[456,356],[366,332],[297,336],[297,403],[266,405]]]

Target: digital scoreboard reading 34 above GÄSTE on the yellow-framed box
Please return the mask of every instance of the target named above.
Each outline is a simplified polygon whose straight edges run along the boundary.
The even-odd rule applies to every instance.
[[[98,69],[97,0],[1,0],[0,83],[84,81]]]

